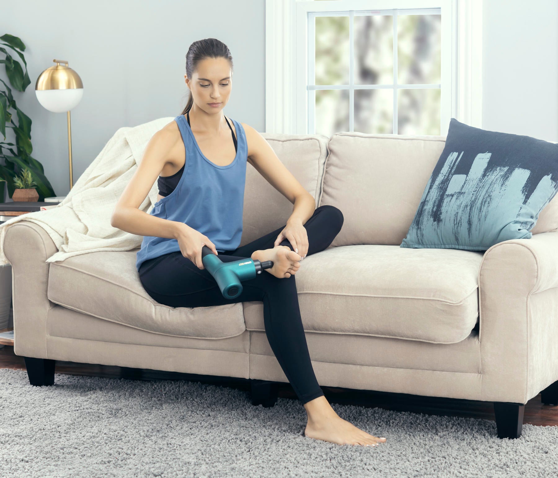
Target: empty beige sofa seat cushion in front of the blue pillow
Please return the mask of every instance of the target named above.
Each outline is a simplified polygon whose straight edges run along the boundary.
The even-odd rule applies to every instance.
[[[483,252],[347,245],[307,256],[296,275],[304,330],[454,344],[477,324]],[[265,330],[262,302],[244,303]]]

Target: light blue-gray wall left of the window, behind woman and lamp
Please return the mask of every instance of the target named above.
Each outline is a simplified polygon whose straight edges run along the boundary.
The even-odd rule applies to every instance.
[[[263,0],[2,2],[0,36],[21,38],[31,79],[25,93],[12,91],[33,120],[32,156],[56,195],[70,190],[66,113],[47,111],[35,96],[37,77],[53,59],[69,61],[84,84],[70,112],[75,184],[118,128],[182,113],[186,52],[202,38],[218,38],[233,56],[225,114],[264,131],[264,18]],[[1,65],[0,71],[7,82]]]

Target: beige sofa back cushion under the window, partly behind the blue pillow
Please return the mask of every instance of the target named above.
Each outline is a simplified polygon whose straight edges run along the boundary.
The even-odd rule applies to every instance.
[[[445,146],[445,136],[335,133],[318,206],[343,213],[331,247],[399,245]],[[558,230],[558,195],[541,211],[532,233]]]

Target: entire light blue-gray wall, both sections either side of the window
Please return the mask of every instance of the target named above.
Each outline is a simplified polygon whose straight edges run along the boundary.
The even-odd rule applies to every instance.
[[[483,16],[483,128],[558,141],[558,2],[484,0]],[[227,115],[265,130],[264,0],[3,2],[0,32],[27,46],[31,85],[16,102],[33,119],[33,156],[57,195],[69,191],[66,114],[35,96],[54,58],[84,82],[71,112],[74,183],[118,128],[182,112],[186,51],[201,38],[232,52]]]

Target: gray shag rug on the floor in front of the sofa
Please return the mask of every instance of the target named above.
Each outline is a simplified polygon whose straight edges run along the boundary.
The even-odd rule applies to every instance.
[[[523,425],[517,440],[485,419],[332,404],[387,442],[335,445],[302,435],[306,412],[279,398],[187,380],[55,375],[33,387],[0,369],[0,476],[557,476],[558,427]]]

